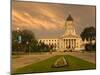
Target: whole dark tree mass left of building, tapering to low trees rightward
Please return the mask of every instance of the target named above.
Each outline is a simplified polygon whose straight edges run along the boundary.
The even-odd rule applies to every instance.
[[[12,51],[15,52],[48,52],[51,45],[38,42],[30,30],[12,31]]]

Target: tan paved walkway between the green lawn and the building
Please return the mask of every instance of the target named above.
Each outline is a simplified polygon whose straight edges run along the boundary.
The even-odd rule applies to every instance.
[[[72,55],[78,58],[81,58],[83,60],[96,63],[95,62],[95,53],[81,53],[81,52],[54,52],[52,54],[50,53],[41,53],[41,54],[30,54],[30,55],[21,55],[19,58],[12,59],[12,71],[24,67],[26,65],[36,63],[45,59],[48,59],[50,57],[53,57],[55,55]]]

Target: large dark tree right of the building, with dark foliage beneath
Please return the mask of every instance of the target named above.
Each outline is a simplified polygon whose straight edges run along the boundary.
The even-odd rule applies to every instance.
[[[94,27],[85,28],[80,36],[81,36],[83,41],[85,39],[87,41],[90,41],[90,43],[85,44],[85,50],[86,51],[96,50],[96,43],[92,44],[92,40],[96,39],[96,29]]]

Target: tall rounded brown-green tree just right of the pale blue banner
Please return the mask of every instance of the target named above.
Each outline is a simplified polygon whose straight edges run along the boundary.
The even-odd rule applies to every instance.
[[[21,44],[23,45],[24,50],[26,52],[31,51],[32,49],[31,46],[36,41],[33,32],[29,30],[23,30],[21,32],[21,37],[22,37]]]

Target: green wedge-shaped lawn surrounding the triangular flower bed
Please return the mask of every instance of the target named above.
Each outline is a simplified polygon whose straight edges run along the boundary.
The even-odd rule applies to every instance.
[[[56,59],[62,56],[66,58],[67,62],[69,63],[69,66],[61,67],[61,68],[52,68],[51,65],[54,64]],[[14,72],[14,74],[73,71],[73,70],[85,70],[85,69],[95,69],[95,68],[96,68],[96,65],[88,61],[84,61],[82,59],[79,59],[79,58],[76,58],[70,55],[58,55],[58,56],[51,57],[41,62],[30,64],[23,68],[19,68]]]

